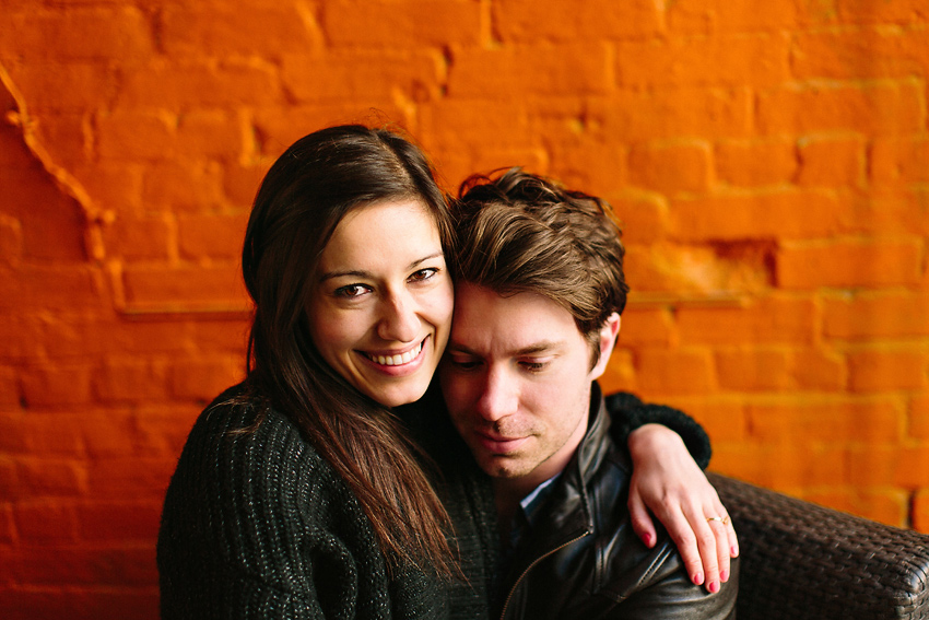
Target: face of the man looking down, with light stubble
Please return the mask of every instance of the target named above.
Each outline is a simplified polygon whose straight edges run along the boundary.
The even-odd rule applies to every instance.
[[[442,388],[484,471],[528,492],[564,469],[587,432],[590,383],[602,374],[618,330],[613,315],[591,369],[590,343],[555,302],[456,286]]]

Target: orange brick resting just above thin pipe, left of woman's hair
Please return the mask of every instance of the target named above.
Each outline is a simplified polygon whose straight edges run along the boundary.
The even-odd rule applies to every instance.
[[[243,307],[246,296],[237,266],[142,267],[122,273],[130,308]]]

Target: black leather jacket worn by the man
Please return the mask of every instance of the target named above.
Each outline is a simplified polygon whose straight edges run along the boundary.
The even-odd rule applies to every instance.
[[[626,506],[632,466],[593,385],[587,435],[514,557],[497,601],[506,620],[733,619],[739,562],[715,595],[691,583],[667,534],[647,549]]]

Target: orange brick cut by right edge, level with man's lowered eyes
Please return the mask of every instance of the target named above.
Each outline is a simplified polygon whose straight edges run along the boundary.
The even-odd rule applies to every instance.
[[[890,391],[929,387],[929,350],[874,349],[848,353],[854,391]]]

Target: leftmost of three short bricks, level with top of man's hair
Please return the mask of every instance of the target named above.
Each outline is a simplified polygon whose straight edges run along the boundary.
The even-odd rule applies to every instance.
[[[633,147],[630,183],[662,194],[707,191],[712,183],[712,151],[701,142]]]

